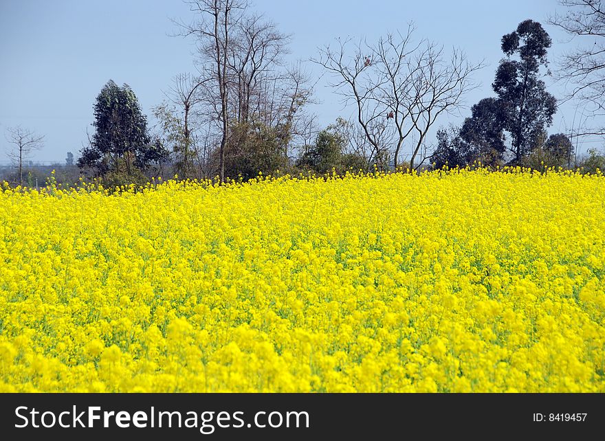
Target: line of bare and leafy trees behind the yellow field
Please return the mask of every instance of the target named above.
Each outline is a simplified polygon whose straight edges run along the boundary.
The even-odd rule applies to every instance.
[[[195,74],[175,76],[166,100],[153,109],[158,122],[153,129],[131,87],[109,80],[94,103],[94,134],[76,161],[87,176],[119,185],[173,173],[225,181],[259,172],[582,165],[569,134],[547,131],[558,100],[544,82],[551,74],[552,40],[537,21],[522,21],[502,37],[495,96],[474,104],[460,126],[439,126],[432,143],[429,134],[438,120],[463,111],[483,62],[417,38],[412,23],[375,42],[326,45],[310,62],[331,78],[330,86],[354,116],[321,128],[309,111],[314,84],[305,63],[287,63],[292,36],[252,12],[246,0],[186,3],[190,20],[175,23],[177,36],[196,43]],[[560,3],[566,14],[551,16],[549,23],[595,39],[587,49],[566,54],[555,71],[557,80],[573,84],[560,100],[590,103],[596,115],[605,93],[605,10],[600,1]],[[577,135],[589,134],[605,131],[591,127]],[[23,183],[23,159],[43,139],[23,128],[8,135]],[[596,151],[585,162],[590,168],[605,166]]]

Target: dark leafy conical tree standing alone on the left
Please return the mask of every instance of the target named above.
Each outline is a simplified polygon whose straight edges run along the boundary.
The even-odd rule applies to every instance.
[[[110,170],[131,176],[165,155],[162,146],[152,144],[146,116],[128,84],[118,87],[109,80],[97,96],[94,117],[95,133],[80,152],[80,168],[93,168],[99,176]]]

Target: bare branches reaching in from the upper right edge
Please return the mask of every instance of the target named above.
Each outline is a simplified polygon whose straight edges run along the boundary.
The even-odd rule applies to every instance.
[[[586,105],[593,117],[605,114],[605,5],[600,0],[560,0],[564,13],[550,16],[549,23],[560,27],[584,44],[560,58],[555,76],[566,85],[564,100]],[[577,135],[605,135],[600,124],[585,127]]]

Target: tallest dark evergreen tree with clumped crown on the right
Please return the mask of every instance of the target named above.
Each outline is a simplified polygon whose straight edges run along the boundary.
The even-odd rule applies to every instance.
[[[536,21],[526,20],[502,37],[507,58],[500,61],[492,87],[506,113],[505,128],[511,134],[514,161],[531,152],[531,141],[553,121],[557,101],[539,79],[547,65],[551,38]],[[518,60],[511,56],[517,55]]]

